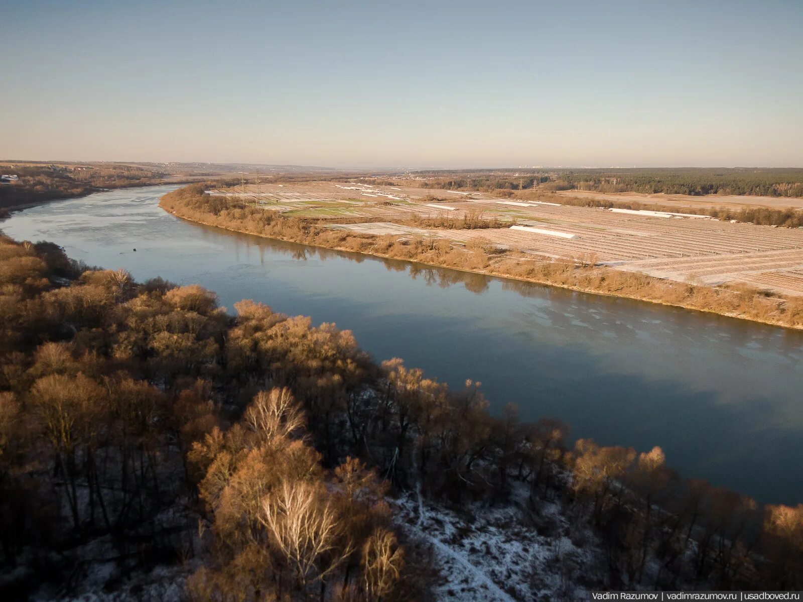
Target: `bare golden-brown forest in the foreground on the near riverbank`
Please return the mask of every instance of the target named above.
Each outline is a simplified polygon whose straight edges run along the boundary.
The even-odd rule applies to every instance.
[[[398,518],[410,494],[592,534],[569,575],[583,588],[803,588],[803,504],[683,480],[658,447],[491,416],[479,383],[375,362],[332,324],[234,312],[0,240],[0,598],[69,599],[112,562],[112,593],[165,566],[185,600],[433,600]]]

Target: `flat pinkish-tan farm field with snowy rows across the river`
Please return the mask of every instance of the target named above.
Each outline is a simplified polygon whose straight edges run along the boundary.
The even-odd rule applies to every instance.
[[[799,228],[357,182],[251,184],[210,192],[251,199],[266,209],[316,219],[333,228],[491,245],[675,281],[745,283],[803,295],[803,229]],[[478,216],[498,220],[502,227],[459,226]],[[513,225],[517,228],[511,229]]]

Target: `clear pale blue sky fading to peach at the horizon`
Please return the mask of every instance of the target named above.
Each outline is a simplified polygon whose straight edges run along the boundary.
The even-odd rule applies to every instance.
[[[0,158],[803,166],[803,0],[0,0]]]

